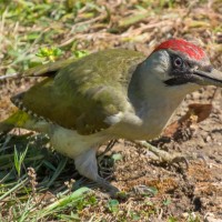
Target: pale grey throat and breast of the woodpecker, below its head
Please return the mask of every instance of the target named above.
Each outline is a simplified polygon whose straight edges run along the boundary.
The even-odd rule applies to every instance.
[[[161,81],[154,83],[155,87],[143,88],[142,97],[131,97],[135,114],[142,120],[141,134],[147,140],[161,134],[185,95],[194,91],[189,85],[176,89],[165,87]]]

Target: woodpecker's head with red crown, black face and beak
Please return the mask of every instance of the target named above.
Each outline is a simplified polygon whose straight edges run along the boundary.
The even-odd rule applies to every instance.
[[[200,47],[182,39],[170,39],[158,46],[143,67],[168,89],[192,92],[202,85],[222,87],[222,72],[215,70]],[[160,84],[159,84],[160,85]]]

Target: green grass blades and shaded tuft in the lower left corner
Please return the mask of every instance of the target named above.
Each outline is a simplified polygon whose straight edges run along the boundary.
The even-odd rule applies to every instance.
[[[11,155],[1,150],[0,221],[42,221],[52,216],[80,220],[78,211],[97,201],[93,192],[84,186],[74,191],[74,181],[59,182],[58,176],[64,170],[67,158],[47,150],[38,152],[36,144],[31,144],[32,140],[41,145],[44,139],[31,137],[28,144],[24,144],[24,139],[14,139],[18,148]],[[47,154],[58,160],[48,162]],[[50,192],[51,189],[53,192]]]

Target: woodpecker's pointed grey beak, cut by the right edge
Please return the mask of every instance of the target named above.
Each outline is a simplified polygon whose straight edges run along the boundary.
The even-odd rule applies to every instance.
[[[222,88],[222,72],[216,69],[210,71],[194,70],[193,82],[200,85],[216,85]]]

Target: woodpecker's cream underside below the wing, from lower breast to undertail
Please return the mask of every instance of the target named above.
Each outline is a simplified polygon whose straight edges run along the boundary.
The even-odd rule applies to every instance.
[[[130,117],[132,118],[132,117]],[[151,140],[161,133],[165,124],[161,118],[151,118],[148,122],[128,121],[119,122],[101,132],[81,135],[74,130],[64,129],[58,124],[46,121],[30,121],[27,123],[27,129],[44,132],[50,137],[50,142],[54,150],[59,153],[74,159],[84,153],[89,149],[99,148],[104,142],[112,139],[128,139],[128,140]]]

